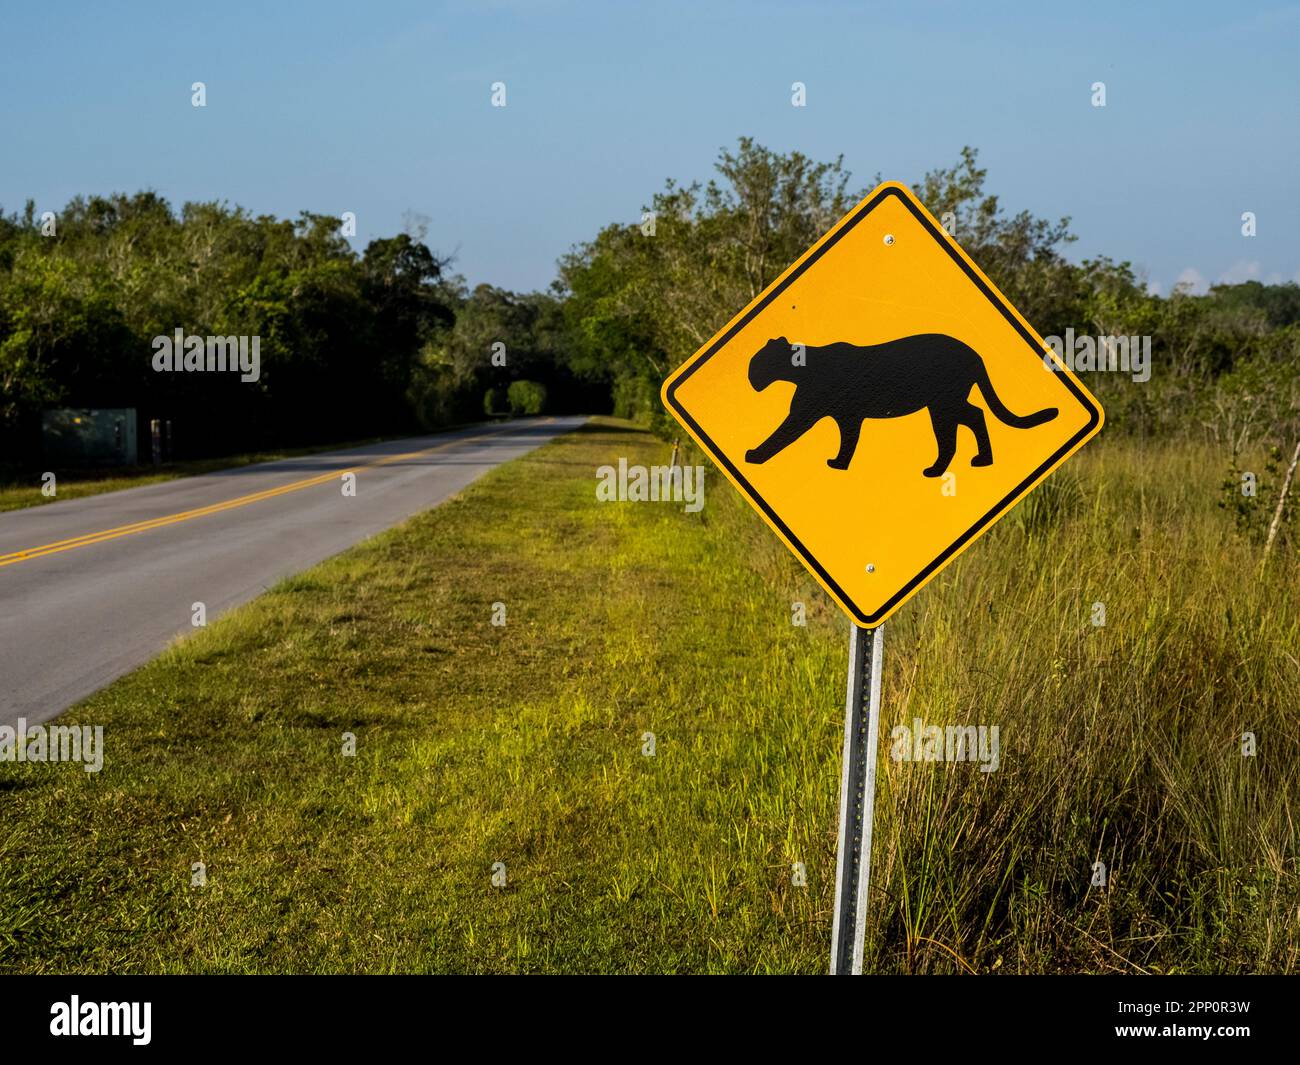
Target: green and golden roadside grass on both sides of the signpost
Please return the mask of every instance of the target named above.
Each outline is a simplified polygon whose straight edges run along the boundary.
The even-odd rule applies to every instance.
[[[0,766],[0,969],[826,971],[846,623],[720,477],[597,503],[620,455],[667,449],[599,420],[176,645],[65,715],[101,772]],[[1300,568],[1223,464],[1104,437],[890,620],[868,970],[1300,967]],[[918,717],[1001,767],[890,761]]]

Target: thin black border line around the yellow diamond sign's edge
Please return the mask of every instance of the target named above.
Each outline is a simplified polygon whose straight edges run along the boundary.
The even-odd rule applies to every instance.
[[[731,459],[722,453],[722,449],[714,443],[712,438],[699,428],[696,420],[686,414],[682,406],[677,402],[677,388],[686,381],[692,373],[694,373],[699,367],[702,367],[708,359],[711,359],[724,345],[727,345],[732,337],[734,337],[741,329],[753,321],[754,316],[763,311],[767,304],[776,299],[781,293],[784,293],[796,280],[798,280],[809,267],[818,261],[826,252],[828,252],[840,241],[844,234],[852,230],[858,222],[867,217],[884,199],[885,196],[896,196],[911,213],[911,216],[920,222],[926,231],[948,252],[952,260],[962,268],[966,276],[975,283],[975,286],[984,294],[998,311],[1002,312],[1002,317],[1011,324],[1017,333],[1024,338],[1024,342],[1030,346],[1030,351],[1034,354],[1034,362],[1039,365],[1043,364],[1043,351],[1039,348],[1037,341],[1030,334],[1030,332],[1020,324],[1020,321],[1011,313],[1011,308],[1008,306],[997,293],[994,293],[984,280],[971,269],[970,264],[957,254],[953,244],[941,237],[939,230],[935,229],[933,224],[922,212],[919,212],[915,204],[907,199],[898,189],[884,189],[878,195],[872,196],[863,207],[849,220],[849,222],[836,230],[832,237],[822,244],[816,251],[814,251],[806,260],[803,260],[788,277],[783,278],[776,287],[763,295],[763,298],[755,303],[749,312],[741,317],[731,329],[728,329],[722,337],[719,337],[714,343],[711,343],[705,351],[699,352],[681,373],[673,378],[672,384],[668,385],[666,391],[666,398],[672,404],[673,412],[685,423],[690,430],[705,442],[708,447],[711,455],[718,459],[725,468],[727,472],[736,479],[736,481],[745,489],[746,494],[754,499],[762,508],[767,519],[781,531],[781,534],[789,541],[794,550],[798,551],[800,557],[812,568],[812,571],[826,583],[828,588],[835,589],[836,596],[838,596],[840,602],[845,603],[854,619],[859,625],[864,628],[874,628],[880,624],[880,620],[907,598],[922,583],[930,577],[940,566],[942,566],[948,559],[950,559],[957,551],[959,551],[966,544],[974,540],[985,527],[988,527],[993,518],[1006,507],[1009,503],[1014,502],[1018,497],[1023,495],[1024,492],[1034,484],[1039,477],[1041,477],[1048,469],[1050,469],[1056,463],[1058,463],[1065,455],[1070,453],[1082,440],[1084,440],[1097,424],[1101,421],[1101,411],[1097,406],[1083,393],[1075,384],[1074,378],[1069,373],[1060,375],[1061,380],[1065,382],[1066,388],[1071,391],[1079,404],[1088,412],[1088,424],[1084,425],[1078,433],[1075,433],[1070,440],[1067,440],[1061,447],[1058,447],[1052,458],[1046,459],[1041,466],[1039,466],[1032,473],[1030,473],[1020,484],[1013,488],[1001,501],[998,501],[983,518],[980,518],[974,525],[971,525],[965,533],[962,533],[957,540],[954,540],[933,562],[931,562],[924,570],[922,570],[915,577],[907,581],[888,602],[885,602],[880,610],[875,614],[863,614],[858,605],[849,597],[849,594],[831,577],[831,575],[822,567],[822,563],[814,558],[812,553],[803,546],[797,536],[790,532],[790,528],[777,516],[767,501],[763,499],[754,486],[749,482],[744,473],[736,468]]]

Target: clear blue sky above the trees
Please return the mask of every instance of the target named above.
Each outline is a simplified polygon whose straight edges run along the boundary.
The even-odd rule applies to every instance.
[[[1128,259],[1165,293],[1180,276],[1300,277],[1297,5],[5,8],[6,212],[152,187],[177,205],[354,211],[361,244],[413,212],[472,283],[524,290],[636,221],[664,178],[707,178],[741,134],[842,153],[857,186],[913,182],[972,144],[1006,207],[1071,216],[1075,257]]]

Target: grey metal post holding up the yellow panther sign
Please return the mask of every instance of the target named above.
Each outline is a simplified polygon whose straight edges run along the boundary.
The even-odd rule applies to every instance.
[[[840,772],[840,847],[835,862],[835,931],[831,975],[862,973],[871,883],[871,821],[876,806],[876,744],[880,739],[880,667],[884,625],[849,631],[849,696],[844,707]]]

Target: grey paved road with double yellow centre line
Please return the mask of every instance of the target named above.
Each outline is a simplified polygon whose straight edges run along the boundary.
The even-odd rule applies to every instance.
[[[582,421],[480,425],[0,514],[0,724],[47,720],[153,658],[194,631],[192,603],[211,623]]]

